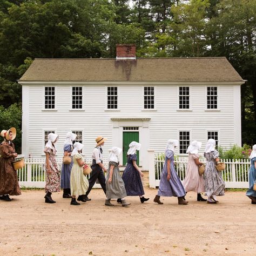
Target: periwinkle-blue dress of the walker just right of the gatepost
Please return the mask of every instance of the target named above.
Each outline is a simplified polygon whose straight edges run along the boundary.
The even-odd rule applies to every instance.
[[[167,180],[167,160],[171,160],[170,163],[170,174],[171,178]],[[186,192],[178,177],[178,174],[174,167],[174,156],[171,150],[165,151],[165,162],[161,173],[160,184],[158,189],[158,196],[160,197],[183,197]]]

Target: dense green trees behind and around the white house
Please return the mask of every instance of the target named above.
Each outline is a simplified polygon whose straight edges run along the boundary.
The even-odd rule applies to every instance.
[[[242,144],[256,143],[255,0],[0,0],[0,130],[17,127],[22,88],[35,58],[114,58],[135,43],[137,57],[225,56],[241,86]]]

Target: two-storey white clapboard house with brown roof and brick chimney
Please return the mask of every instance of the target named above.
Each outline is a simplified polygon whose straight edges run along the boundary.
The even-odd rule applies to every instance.
[[[225,57],[136,58],[134,45],[117,45],[111,59],[35,59],[18,81],[22,85],[22,153],[41,158],[47,134],[78,134],[91,156],[95,138],[112,146],[142,144],[139,165],[147,169],[147,150],[163,152],[179,139],[177,154],[192,140],[213,138],[218,145],[241,145],[240,86],[244,84]]]

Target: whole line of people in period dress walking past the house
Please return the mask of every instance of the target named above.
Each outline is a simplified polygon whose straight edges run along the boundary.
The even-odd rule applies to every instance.
[[[17,172],[12,165],[17,153],[15,152],[12,140],[16,137],[16,129],[12,127],[8,131],[3,130],[1,136],[4,138],[0,144],[0,199],[11,201],[10,196],[18,196],[21,190],[18,184]],[[112,147],[109,153],[109,167],[106,170],[103,165],[103,149],[106,138],[99,136],[96,138],[96,146],[92,152],[92,165],[89,180],[84,175],[84,167],[87,166],[82,155],[83,144],[75,142],[76,134],[68,132],[64,143],[64,156],[72,158],[71,163],[62,165],[62,171],[58,170],[56,161],[55,144],[59,136],[55,133],[48,134],[48,142],[45,145],[45,203],[56,203],[52,199],[53,192],[60,192],[63,188],[63,198],[71,198],[71,205],[80,205],[80,202],[90,201],[88,195],[98,179],[102,187],[106,199],[106,206],[114,206],[111,199],[117,199],[117,203],[122,206],[128,206],[125,200],[126,196],[139,196],[140,202],[144,203],[149,198],[144,197],[144,189],[142,183],[143,172],[139,169],[137,161],[137,151],[140,150],[141,144],[131,142],[127,152],[127,165],[120,176],[119,156],[122,149]],[[225,182],[215,168],[215,164],[219,161],[219,152],[215,150],[215,140],[208,139],[205,147],[204,157],[206,158],[206,166],[204,176],[198,172],[198,167],[202,165],[199,161],[198,150],[201,143],[196,140],[188,146],[188,163],[186,168],[186,177],[183,182],[178,177],[174,165],[174,152],[178,146],[178,140],[170,139],[165,149],[165,162],[161,172],[159,189],[154,203],[163,204],[160,197],[177,197],[178,204],[186,205],[185,196],[189,191],[197,193],[198,201],[207,201],[208,204],[217,204],[217,196],[224,196]],[[251,199],[252,204],[256,204],[256,191],[254,183],[256,181],[256,144],[253,145],[250,155],[251,166],[249,174],[249,189],[246,196]],[[104,172],[107,172],[106,178]],[[207,199],[201,196],[205,192]]]

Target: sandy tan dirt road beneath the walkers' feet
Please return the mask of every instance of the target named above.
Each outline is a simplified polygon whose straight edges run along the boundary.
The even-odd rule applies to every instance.
[[[102,190],[91,201],[70,205],[62,193],[44,203],[44,191],[23,191],[0,201],[0,255],[255,255],[256,205],[245,192],[226,192],[217,205],[177,198],[153,203],[127,197],[130,207],[104,205]]]

